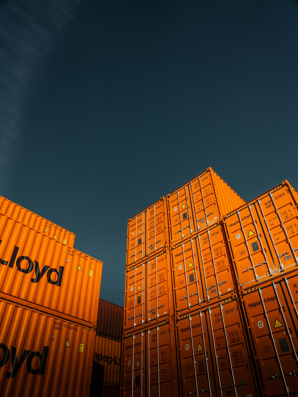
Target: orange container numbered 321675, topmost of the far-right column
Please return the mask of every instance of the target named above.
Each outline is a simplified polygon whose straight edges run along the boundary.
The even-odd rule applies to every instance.
[[[225,218],[240,288],[247,289],[298,266],[298,209],[293,192],[284,181]]]

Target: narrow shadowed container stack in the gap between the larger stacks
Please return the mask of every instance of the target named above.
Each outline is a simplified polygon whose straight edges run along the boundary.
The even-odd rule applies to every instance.
[[[99,299],[90,397],[119,397],[123,307]]]

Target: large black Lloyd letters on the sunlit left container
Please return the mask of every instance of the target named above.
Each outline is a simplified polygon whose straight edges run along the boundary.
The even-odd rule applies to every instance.
[[[2,240],[0,240],[0,244],[2,243]],[[3,266],[7,266],[9,268],[13,268],[14,264],[17,267],[17,270],[21,273],[30,273],[32,272],[33,269],[35,269],[35,278],[31,278],[31,283],[38,283],[39,280],[46,274],[46,278],[48,279],[48,283],[57,285],[60,287],[61,281],[62,281],[62,274],[64,270],[64,266],[60,266],[59,270],[57,269],[50,269],[50,266],[45,265],[43,268],[39,267],[39,263],[37,260],[33,261],[29,258],[29,256],[19,256],[17,258],[17,252],[19,251],[19,247],[15,245],[14,251],[12,252],[12,256],[10,257],[10,260],[4,260],[0,258],[0,264]],[[54,281],[51,276],[53,273],[57,274],[57,279]]]

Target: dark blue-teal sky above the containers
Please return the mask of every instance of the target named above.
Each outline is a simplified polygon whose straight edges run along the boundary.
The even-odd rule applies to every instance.
[[[207,167],[298,189],[298,2],[0,2],[0,194],[123,305],[127,219]]]

